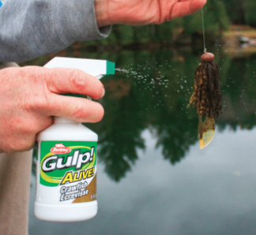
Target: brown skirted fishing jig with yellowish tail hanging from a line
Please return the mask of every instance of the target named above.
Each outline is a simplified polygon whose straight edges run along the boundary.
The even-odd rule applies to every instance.
[[[203,148],[213,140],[215,119],[222,113],[220,68],[214,62],[214,54],[206,50],[194,74],[194,93],[190,104],[197,106],[199,144]]]

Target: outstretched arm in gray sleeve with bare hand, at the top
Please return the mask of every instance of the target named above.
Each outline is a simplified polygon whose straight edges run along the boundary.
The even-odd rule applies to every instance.
[[[107,37],[110,24],[160,24],[206,0],[8,0],[0,8],[0,62],[53,54],[76,41]],[[98,28],[99,27],[99,28]]]

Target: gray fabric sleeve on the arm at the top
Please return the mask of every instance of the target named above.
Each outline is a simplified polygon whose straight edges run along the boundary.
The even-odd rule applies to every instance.
[[[104,39],[93,0],[8,0],[0,8],[0,62],[24,62],[74,42]]]

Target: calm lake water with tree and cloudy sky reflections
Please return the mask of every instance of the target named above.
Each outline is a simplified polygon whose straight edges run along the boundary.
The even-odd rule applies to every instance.
[[[79,51],[58,55],[116,63],[99,135],[99,211],[85,222],[41,222],[29,207],[29,234],[255,234],[256,56],[211,50],[221,68],[223,114],[213,141],[199,148],[198,116],[187,107],[199,51]],[[39,58],[44,65],[52,56]]]

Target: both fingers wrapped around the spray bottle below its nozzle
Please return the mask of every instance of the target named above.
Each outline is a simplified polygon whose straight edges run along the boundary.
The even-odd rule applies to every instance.
[[[46,78],[48,89],[56,94],[89,95],[92,99],[104,96],[103,84],[95,76],[79,69],[50,69]],[[79,122],[97,122],[104,116],[100,103],[82,98],[51,94],[44,112],[51,116],[66,117]]]

